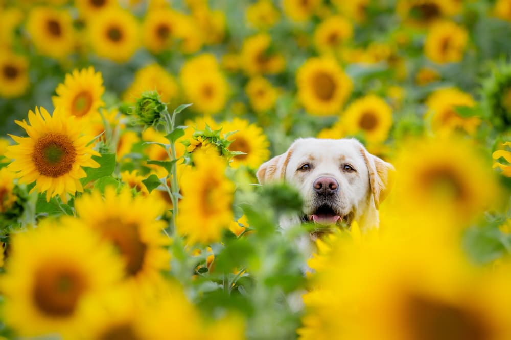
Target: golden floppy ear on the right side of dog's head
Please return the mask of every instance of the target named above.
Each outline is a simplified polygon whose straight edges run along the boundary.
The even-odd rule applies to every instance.
[[[367,165],[367,170],[369,170],[371,190],[373,191],[376,208],[378,208],[392,189],[396,169],[392,164],[367,152],[363,146],[360,147],[360,152]]]

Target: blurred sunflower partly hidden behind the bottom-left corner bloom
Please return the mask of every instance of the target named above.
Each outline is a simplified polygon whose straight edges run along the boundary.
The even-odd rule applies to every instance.
[[[170,254],[163,246],[169,243],[158,220],[164,206],[151,196],[131,197],[127,188],[119,194],[113,187],[105,197],[94,191],[75,201],[80,219],[99,232],[102,239],[120,252],[128,280],[145,286],[159,280],[159,272],[169,268]]]

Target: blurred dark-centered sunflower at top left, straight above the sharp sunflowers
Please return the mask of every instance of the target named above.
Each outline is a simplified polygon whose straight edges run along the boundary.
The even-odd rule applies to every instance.
[[[35,7],[29,13],[27,30],[38,53],[56,59],[69,55],[74,48],[71,15],[50,7]]]

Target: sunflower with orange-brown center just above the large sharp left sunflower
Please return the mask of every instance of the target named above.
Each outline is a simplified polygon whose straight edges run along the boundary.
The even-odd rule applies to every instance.
[[[60,107],[62,113],[68,116],[91,118],[98,115],[100,107],[104,106],[101,96],[105,92],[101,72],[95,72],[94,67],[74,69],[73,73],[66,74],[64,83],[55,89],[57,96],[53,96],[53,105]]]

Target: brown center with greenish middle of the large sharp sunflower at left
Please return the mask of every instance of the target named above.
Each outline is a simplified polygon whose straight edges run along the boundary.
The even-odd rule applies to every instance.
[[[57,178],[68,173],[75,159],[75,146],[66,135],[50,132],[35,142],[32,162],[43,176]]]

